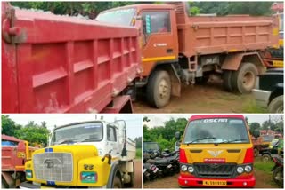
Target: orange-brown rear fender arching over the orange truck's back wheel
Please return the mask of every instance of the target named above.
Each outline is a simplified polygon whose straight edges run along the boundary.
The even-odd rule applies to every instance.
[[[263,60],[261,59],[258,52],[240,52],[228,54],[224,59],[222,69],[236,71],[239,69],[240,64],[243,62],[255,64],[258,70],[258,74],[265,72]]]

